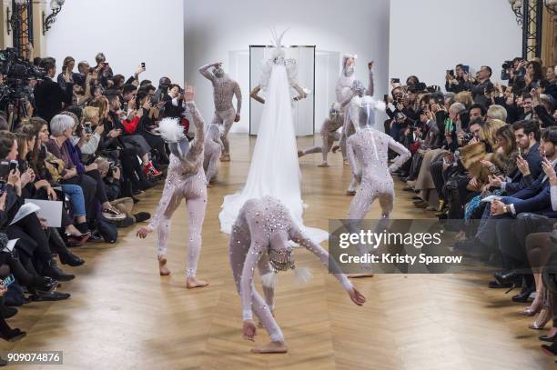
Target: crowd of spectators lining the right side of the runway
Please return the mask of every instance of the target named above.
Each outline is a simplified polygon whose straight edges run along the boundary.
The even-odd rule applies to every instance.
[[[520,288],[532,303],[532,329],[557,355],[557,69],[540,59],[505,62],[503,83],[491,67],[471,75],[456,65],[440,86],[416,76],[391,80],[385,131],[412,157],[397,175],[413,205],[458,231],[454,249],[495,266],[489,286]]]

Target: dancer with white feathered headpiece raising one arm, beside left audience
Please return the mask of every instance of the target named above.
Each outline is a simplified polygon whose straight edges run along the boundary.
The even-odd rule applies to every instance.
[[[196,125],[196,137],[190,144],[183,127],[177,119],[165,118],[160,122],[159,132],[170,149],[167,181],[157,213],[148,226],[137,231],[137,236],[145,238],[154,230],[158,233],[158,267],[160,275],[170,275],[167,268],[167,243],[170,235],[170,219],[177,207],[186,199],[188,215],[188,240],[186,261],[186,286],[196,288],[208,285],[198,280],[197,261],[201,253],[201,227],[207,206],[207,179],[203,171],[203,147],[205,142],[203,118],[194,103],[194,92],[187,86],[184,100]]]

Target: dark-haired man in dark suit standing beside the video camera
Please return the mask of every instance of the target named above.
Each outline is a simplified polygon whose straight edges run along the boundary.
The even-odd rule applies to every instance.
[[[71,82],[71,71],[67,70],[64,75],[66,89],[63,89],[54,80],[56,75],[56,61],[54,58],[45,58],[41,67],[46,71],[45,79],[35,86],[36,115],[50,123],[55,115],[62,112],[64,105],[72,104],[74,84]]]

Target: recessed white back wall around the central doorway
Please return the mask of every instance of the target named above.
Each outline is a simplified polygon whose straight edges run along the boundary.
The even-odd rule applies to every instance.
[[[228,70],[228,52],[248,50],[249,45],[268,45],[270,27],[290,28],[284,45],[316,45],[318,50],[358,54],[357,77],[364,83],[367,62],[375,60],[376,97],[387,89],[389,0],[351,0],[349,5],[338,0],[186,0],[184,19],[185,75],[196,85],[197,103],[206,120],[214,110],[211,85],[197,68],[222,61]],[[319,77],[317,69],[316,80]],[[248,132],[249,82],[238,82],[245,97],[242,120],[233,130]]]

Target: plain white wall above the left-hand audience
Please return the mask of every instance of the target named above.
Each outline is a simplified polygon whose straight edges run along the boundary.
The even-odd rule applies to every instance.
[[[147,71],[140,79],[154,85],[162,75],[183,84],[183,1],[70,0],[46,33],[46,53],[54,56],[58,73],[67,55],[76,64],[96,65],[103,52],[115,74],[133,75],[140,62]],[[76,70],[75,70],[76,71]]]

